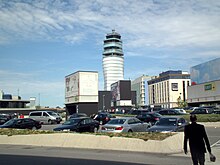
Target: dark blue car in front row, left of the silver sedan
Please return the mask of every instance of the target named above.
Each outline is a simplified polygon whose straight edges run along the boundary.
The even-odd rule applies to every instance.
[[[77,117],[65,121],[62,125],[54,128],[54,131],[74,132],[97,132],[99,122],[90,117]]]

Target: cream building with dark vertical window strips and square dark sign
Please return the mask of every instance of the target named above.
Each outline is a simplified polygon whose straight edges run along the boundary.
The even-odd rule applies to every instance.
[[[187,87],[190,85],[188,72],[166,71],[148,81],[150,106],[173,108],[178,106],[178,99],[187,100]]]

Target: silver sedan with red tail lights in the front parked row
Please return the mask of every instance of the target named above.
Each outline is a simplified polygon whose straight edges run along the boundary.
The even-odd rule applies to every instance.
[[[101,132],[146,132],[148,127],[148,123],[144,123],[136,117],[121,117],[111,119],[103,125]]]

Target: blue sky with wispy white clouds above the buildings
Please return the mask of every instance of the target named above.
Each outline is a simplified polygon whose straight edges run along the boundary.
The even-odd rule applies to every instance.
[[[103,40],[121,34],[124,78],[220,57],[219,0],[0,0],[0,89],[64,107],[65,76],[98,71]]]

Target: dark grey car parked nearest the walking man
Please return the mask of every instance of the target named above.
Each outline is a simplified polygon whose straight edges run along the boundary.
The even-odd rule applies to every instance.
[[[161,117],[154,126],[148,129],[149,132],[179,132],[184,131],[188,122],[180,116]]]

